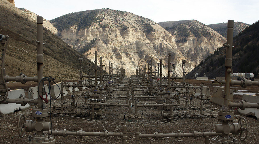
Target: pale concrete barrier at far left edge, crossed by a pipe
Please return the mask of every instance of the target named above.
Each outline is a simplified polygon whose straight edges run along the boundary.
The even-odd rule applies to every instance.
[[[18,89],[18,90],[10,90],[8,92],[7,98],[19,98],[19,96],[25,96],[24,89]],[[9,104],[0,104],[0,113],[8,114],[8,113],[14,113],[14,111],[19,109],[28,109],[30,107],[29,104],[26,104],[24,106],[20,104],[15,103],[9,103]]]

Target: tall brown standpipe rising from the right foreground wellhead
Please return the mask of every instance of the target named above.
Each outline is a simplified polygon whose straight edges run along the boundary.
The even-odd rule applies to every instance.
[[[226,59],[225,59],[225,98],[224,105],[228,106],[230,99],[230,75],[232,67],[232,45],[233,45],[233,27],[234,20],[228,20],[228,31],[227,31],[227,47],[226,47]]]

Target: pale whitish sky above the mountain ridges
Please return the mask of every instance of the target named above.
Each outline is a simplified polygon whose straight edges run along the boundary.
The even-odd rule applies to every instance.
[[[15,0],[15,6],[47,20],[102,8],[131,12],[155,22],[194,19],[204,24],[228,20],[252,24],[259,20],[259,0]]]

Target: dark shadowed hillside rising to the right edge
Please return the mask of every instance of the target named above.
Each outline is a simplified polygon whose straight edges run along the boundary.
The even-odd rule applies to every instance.
[[[235,27],[234,27],[235,28]],[[259,72],[259,22],[245,28],[241,33],[233,39],[232,68],[234,73],[254,73],[257,77]],[[208,56],[204,63],[201,62],[198,68],[186,75],[187,78],[194,78],[194,73],[209,78],[215,78],[225,75],[225,48],[220,47],[214,54]],[[206,68],[205,68],[206,67]]]

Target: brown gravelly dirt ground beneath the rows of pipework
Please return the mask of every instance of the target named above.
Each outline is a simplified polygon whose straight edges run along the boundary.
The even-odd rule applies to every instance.
[[[187,80],[190,84],[204,84],[204,86],[210,87],[210,93],[213,94],[213,86],[223,86],[222,84],[214,84],[212,81],[197,81],[188,79]],[[34,83],[35,84],[35,83]],[[31,86],[36,86],[33,83],[26,83],[25,85],[19,83],[9,83],[8,86],[11,89],[18,89],[18,88],[25,88],[28,89]],[[247,88],[241,88],[240,86],[232,86],[234,91],[237,90],[246,90],[244,92],[250,93],[258,93],[259,87],[251,86]],[[80,94],[81,92],[77,92]],[[117,92],[117,95],[124,96],[125,92]],[[141,92],[137,92],[135,96],[143,95]],[[70,94],[66,96],[66,99],[70,98]],[[234,99],[239,101],[242,99],[241,95],[234,94]],[[151,98],[148,100],[143,101],[144,99],[139,99],[139,104],[148,103],[153,104],[155,103],[155,99]],[[181,100],[181,104],[184,105],[184,99]],[[200,100],[198,98],[194,99],[194,103],[196,106],[199,107]],[[55,103],[57,105],[60,104],[60,100],[56,100]],[[80,103],[80,99],[79,99]],[[125,103],[125,99],[123,98],[109,98],[107,99],[106,103]],[[47,104],[49,105],[49,104]],[[66,103],[66,105],[71,105],[70,100]],[[220,108],[220,106],[215,105],[213,103],[206,104],[206,106]],[[32,106],[31,106],[32,108]],[[23,111],[16,111],[13,114],[5,114],[0,115],[0,143],[24,143],[25,137],[29,134],[33,134],[33,132],[26,132],[26,136],[24,138],[20,138],[17,132],[17,122],[18,118],[21,114],[25,115],[26,120],[33,120],[31,116],[31,108],[26,109]],[[66,111],[70,111],[71,108],[67,108]],[[126,114],[125,114],[126,112]],[[199,110],[193,110],[194,113],[199,113]],[[205,110],[204,113],[216,112],[212,110]],[[127,143],[135,143],[135,126],[136,122],[140,124],[140,132],[141,133],[155,133],[157,130],[160,130],[162,133],[175,133],[180,130],[181,132],[193,132],[194,130],[203,132],[203,131],[211,131],[214,132],[215,124],[220,124],[217,118],[209,118],[209,117],[198,117],[198,118],[176,118],[174,122],[170,123],[168,121],[159,121],[159,122],[152,122],[149,124],[144,124],[145,122],[151,122],[155,120],[161,120],[161,110],[157,110],[154,107],[140,107],[138,109],[139,115],[143,113],[144,119],[132,119],[131,122],[127,120],[128,108],[126,107],[115,107],[109,106],[108,109],[103,109],[103,119],[97,120],[100,122],[110,122],[115,124],[104,124],[100,122],[92,122],[89,120],[83,120],[79,118],[73,118],[69,116],[60,116],[54,115],[52,117],[52,124],[53,130],[63,130],[67,129],[68,131],[79,131],[83,128],[83,131],[87,132],[100,132],[103,129],[108,130],[108,132],[121,132],[121,122],[124,119],[124,115],[126,115],[126,126],[127,126]],[[132,115],[135,114],[135,108],[132,109]],[[237,111],[235,111],[235,115],[239,115]],[[75,115],[72,115],[75,116]],[[259,121],[256,118],[243,116],[248,122],[248,137],[247,143],[259,143],[258,134],[259,134]],[[90,119],[90,117],[81,117]],[[233,123],[237,123],[237,118],[233,121]],[[50,118],[46,118],[45,121],[50,122]],[[238,139],[237,135],[232,135],[232,137]],[[122,143],[121,137],[83,137],[80,139],[77,136],[68,136],[66,138],[62,136],[55,137],[56,143]],[[185,137],[178,141],[176,138],[165,138],[165,139],[151,139],[145,138],[141,139],[140,143],[205,143],[204,138],[197,138],[193,139],[192,137]],[[241,142],[240,142],[241,143]]]

